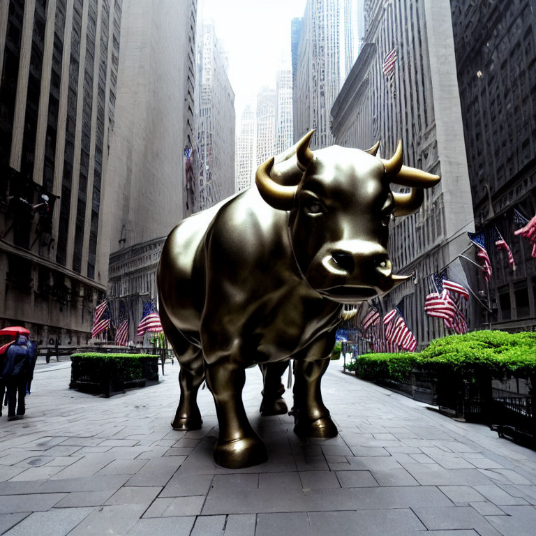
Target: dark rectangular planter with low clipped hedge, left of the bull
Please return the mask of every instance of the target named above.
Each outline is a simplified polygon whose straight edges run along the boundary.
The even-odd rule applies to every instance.
[[[156,355],[89,353],[70,360],[70,389],[108,397],[158,383]]]

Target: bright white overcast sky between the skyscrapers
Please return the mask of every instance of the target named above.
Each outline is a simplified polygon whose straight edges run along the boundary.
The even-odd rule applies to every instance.
[[[212,19],[229,53],[229,77],[237,121],[263,85],[276,85],[282,57],[290,62],[290,21],[306,0],[200,0],[198,20]]]

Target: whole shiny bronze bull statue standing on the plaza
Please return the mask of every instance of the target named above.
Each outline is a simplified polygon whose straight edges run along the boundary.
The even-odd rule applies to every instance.
[[[181,370],[172,426],[199,429],[197,394],[207,380],[219,424],[216,463],[242,468],[267,459],[241,399],[245,369],[260,365],[261,411],[287,411],[281,375],[295,360],[295,432],[332,438],[322,402],[343,304],[391,290],[387,255],[392,214],[411,214],[422,188],[440,177],[402,165],[401,142],[389,160],[368,151],[309,149],[308,133],[260,165],[256,187],[181,221],[158,267],[160,316]],[[389,183],[410,186],[394,193]]]

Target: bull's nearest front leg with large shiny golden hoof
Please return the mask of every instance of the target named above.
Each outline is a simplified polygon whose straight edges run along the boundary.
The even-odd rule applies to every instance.
[[[232,359],[218,359],[205,368],[207,386],[216,404],[219,437],[214,461],[231,469],[255,466],[267,460],[265,444],[251,428],[242,389],[246,381],[244,367]]]

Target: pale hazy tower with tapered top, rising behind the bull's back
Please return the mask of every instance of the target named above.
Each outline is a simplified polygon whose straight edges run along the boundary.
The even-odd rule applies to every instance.
[[[234,193],[234,92],[227,74],[228,58],[204,22],[198,44],[199,186],[195,211],[204,210]]]

